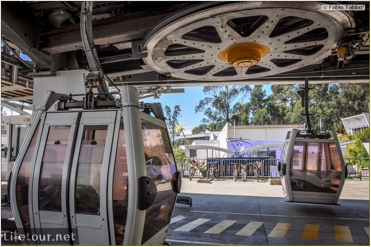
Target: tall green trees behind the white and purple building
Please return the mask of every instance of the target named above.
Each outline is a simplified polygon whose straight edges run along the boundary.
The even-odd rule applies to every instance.
[[[297,93],[304,84],[272,85],[266,95],[261,85],[250,87],[204,87],[206,97],[196,107],[204,113],[203,130],[220,131],[225,123],[236,125],[305,125],[302,99]],[[345,134],[341,119],[369,112],[370,83],[310,84],[309,119],[312,130],[336,130]],[[250,93],[250,100],[245,100]],[[240,99],[237,96],[240,94]],[[201,128],[201,126],[199,126]],[[197,127],[196,127],[197,128]],[[195,133],[200,131],[195,130]],[[204,131],[203,131],[204,132]],[[200,133],[200,132],[198,132]],[[361,148],[359,148],[360,150]],[[358,155],[364,154],[359,151]]]

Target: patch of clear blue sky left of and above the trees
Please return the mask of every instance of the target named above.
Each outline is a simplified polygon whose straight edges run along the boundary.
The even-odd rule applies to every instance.
[[[270,90],[271,85],[263,85],[267,96],[272,94]],[[254,86],[251,85],[253,88]],[[175,88],[175,87],[174,87]],[[208,97],[203,93],[203,87],[183,87],[185,93],[175,93],[175,94],[162,94],[160,99],[147,98],[143,101],[145,103],[155,103],[160,102],[162,109],[165,106],[169,106],[173,109],[175,105],[179,105],[181,109],[181,117],[178,118],[181,125],[185,125],[184,134],[191,134],[191,130],[201,124],[201,119],[204,118],[203,113],[195,113],[194,109],[200,102],[200,100]]]

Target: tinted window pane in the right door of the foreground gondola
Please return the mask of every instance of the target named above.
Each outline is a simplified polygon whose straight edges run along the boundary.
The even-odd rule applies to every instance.
[[[107,125],[85,126],[76,179],[76,213],[100,215],[100,190]]]

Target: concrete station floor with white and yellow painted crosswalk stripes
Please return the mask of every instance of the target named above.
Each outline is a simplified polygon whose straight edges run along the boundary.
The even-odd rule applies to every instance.
[[[340,206],[286,203],[281,186],[182,180],[167,241],[171,245],[370,246],[370,181],[347,180]]]

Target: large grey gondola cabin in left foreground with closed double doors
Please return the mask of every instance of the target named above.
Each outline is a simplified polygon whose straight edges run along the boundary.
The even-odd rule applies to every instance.
[[[163,245],[181,179],[161,104],[131,86],[81,104],[47,91],[33,118],[10,181],[18,232],[68,237],[23,244]]]

